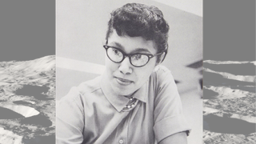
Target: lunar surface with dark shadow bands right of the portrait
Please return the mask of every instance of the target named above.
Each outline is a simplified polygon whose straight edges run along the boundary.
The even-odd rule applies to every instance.
[[[203,61],[203,141],[256,143],[256,62]]]

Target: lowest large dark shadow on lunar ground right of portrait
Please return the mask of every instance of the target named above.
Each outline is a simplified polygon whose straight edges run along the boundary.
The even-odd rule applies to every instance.
[[[203,116],[203,129],[225,134],[250,134],[255,132],[256,123],[237,118],[222,118],[214,114]]]

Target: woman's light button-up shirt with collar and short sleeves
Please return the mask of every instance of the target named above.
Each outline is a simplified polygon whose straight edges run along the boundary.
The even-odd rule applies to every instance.
[[[137,106],[125,112],[130,99],[110,94],[101,76],[73,87],[56,106],[57,144],[148,144],[183,131],[189,134],[174,78],[166,67],[157,66],[133,97]]]

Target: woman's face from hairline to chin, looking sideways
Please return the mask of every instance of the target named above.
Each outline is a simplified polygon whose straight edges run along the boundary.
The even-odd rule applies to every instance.
[[[153,41],[142,37],[118,36],[116,31],[110,35],[108,46],[114,46],[126,54],[156,54]],[[138,90],[150,77],[156,66],[156,57],[150,58],[146,66],[135,67],[126,57],[122,62],[112,62],[106,56],[106,79],[108,86],[118,95],[130,95]]]

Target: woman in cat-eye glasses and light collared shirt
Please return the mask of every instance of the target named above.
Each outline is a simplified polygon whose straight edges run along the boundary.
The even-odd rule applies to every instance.
[[[190,128],[164,66],[169,26],[155,6],[111,13],[106,70],[73,87],[56,113],[57,143],[186,143]]]

